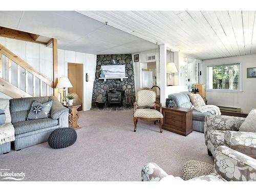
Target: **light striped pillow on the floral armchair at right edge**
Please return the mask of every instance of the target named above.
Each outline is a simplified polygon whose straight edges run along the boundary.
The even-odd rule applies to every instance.
[[[239,131],[256,133],[256,109],[252,109],[245,121],[241,124]]]

